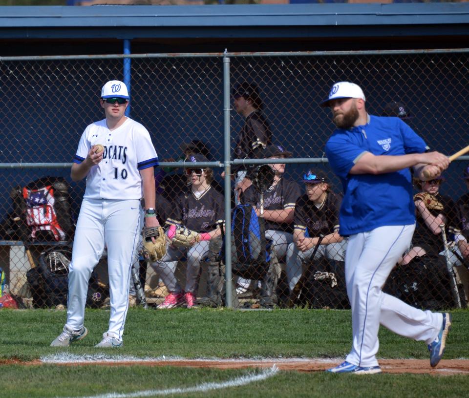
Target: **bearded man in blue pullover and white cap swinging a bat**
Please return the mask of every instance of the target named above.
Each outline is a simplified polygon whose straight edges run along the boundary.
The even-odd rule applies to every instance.
[[[349,237],[345,280],[353,334],[345,362],[329,372],[380,373],[380,323],[425,341],[434,367],[445,350],[451,315],[418,310],[381,289],[415,229],[409,168],[421,180],[433,179],[448,168],[448,157],[427,152],[424,140],[401,119],[368,115],[357,84],[334,84],[321,105],[331,108],[337,126],[325,152],[344,190],[339,232]]]

